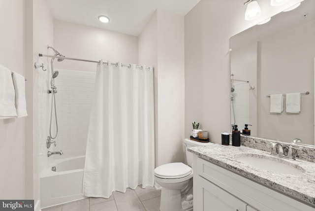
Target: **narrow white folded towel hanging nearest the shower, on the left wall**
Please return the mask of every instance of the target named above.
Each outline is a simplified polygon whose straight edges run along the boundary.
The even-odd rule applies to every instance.
[[[15,107],[17,117],[27,116],[25,100],[25,78],[17,72],[12,71],[13,85],[15,89]]]

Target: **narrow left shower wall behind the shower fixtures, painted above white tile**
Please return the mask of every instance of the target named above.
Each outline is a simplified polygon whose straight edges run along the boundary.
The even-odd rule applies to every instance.
[[[42,69],[30,69],[33,75],[33,199],[39,200],[39,174],[48,166],[46,138],[48,136],[48,115],[50,96],[47,94],[48,77],[50,71],[47,68],[48,59],[39,58],[38,53],[47,54],[47,45],[53,45],[54,20],[47,0],[33,0],[33,46],[32,67],[34,62],[44,63],[47,71]]]

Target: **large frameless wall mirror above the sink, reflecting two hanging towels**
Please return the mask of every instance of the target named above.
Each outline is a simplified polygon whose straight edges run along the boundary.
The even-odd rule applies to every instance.
[[[304,0],[266,24],[230,38],[231,125],[251,136],[314,145],[315,0]],[[301,111],[286,112],[286,93],[301,95]],[[272,94],[284,95],[284,110],[270,112]]]

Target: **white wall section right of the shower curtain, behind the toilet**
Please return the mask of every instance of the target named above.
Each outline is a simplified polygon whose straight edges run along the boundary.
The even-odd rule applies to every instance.
[[[156,166],[184,162],[184,17],[157,10],[139,36],[139,63],[149,62],[155,66]]]

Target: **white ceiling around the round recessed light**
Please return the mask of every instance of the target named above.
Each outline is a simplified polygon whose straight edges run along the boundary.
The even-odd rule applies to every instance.
[[[54,19],[138,36],[156,9],[185,16],[200,0],[48,0]],[[109,23],[97,17],[105,15]]]

